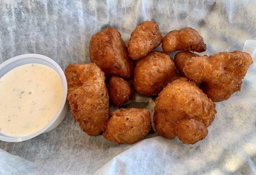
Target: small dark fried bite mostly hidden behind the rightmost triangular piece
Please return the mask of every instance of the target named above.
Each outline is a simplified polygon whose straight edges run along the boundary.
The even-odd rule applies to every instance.
[[[174,63],[175,63],[176,68],[179,70],[179,72],[182,75],[184,75],[183,67],[184,67],[185,60],[195,57],[195,56],[200,56],[200,55],[197,55],[197,54],[195,54],[193,52],[189,52],[189,51],[181,51],[181,52],[176,53],[176,55],[174,57]]]

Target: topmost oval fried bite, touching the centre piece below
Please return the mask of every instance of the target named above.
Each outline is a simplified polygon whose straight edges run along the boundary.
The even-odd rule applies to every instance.
[[[155,21],[144,21],[133,31],[128,42],[128,52],[132,59],[140,59],[146,56],[160,45],[162,41],[161,31]]]

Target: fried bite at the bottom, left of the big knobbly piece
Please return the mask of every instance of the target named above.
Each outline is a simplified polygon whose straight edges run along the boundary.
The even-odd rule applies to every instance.
[[[134,144],[150,131],[151,117],[147,109],[122,108],[110,115],[103,136],[116,144]]]

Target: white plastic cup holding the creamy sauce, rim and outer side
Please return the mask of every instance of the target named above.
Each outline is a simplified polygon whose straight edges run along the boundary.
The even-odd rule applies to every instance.
[[[63,82],[63,89],[64,89],[61,105],[58,111],[56,112],[56,115],[53,117],[53,119],[49,121],[49,123],[47,123],[47,125],[44,126],[41,130],[35,133],[32,133],[30,135],[21,136],[21,137],[11,137],[11,136],[4,135],[3,133],[0,133],[0,140],[6,141],[6,142],[21,142],[24,140],[32,139],[40,135],[41,133],[46,133],[56,128],[66,116],[67,109],[68,109],[67,80],[63,70],[55,61],[53,61],[53,59],[50,59],[47,56],[43,56],[39,54],[24,54],[24,55],[15,56],[11,59],[7,59],[7,61],[0,64],[0,78],[3,77],[10,70],[14,69],[15,67],[21,66],[24,64],[29,64],[29,63],[43,64],[51,67],[53,70],[59,73]]]

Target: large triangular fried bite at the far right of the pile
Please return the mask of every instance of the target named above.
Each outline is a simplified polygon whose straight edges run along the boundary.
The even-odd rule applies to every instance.
[[[220,52],[184,60],[183,72],[190,80],[201,83],[203,92],[213,102],[227,100],[241,90],[242,79],[252,64],[249,53]]]

